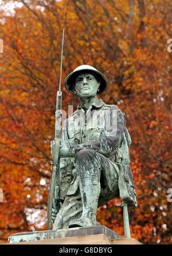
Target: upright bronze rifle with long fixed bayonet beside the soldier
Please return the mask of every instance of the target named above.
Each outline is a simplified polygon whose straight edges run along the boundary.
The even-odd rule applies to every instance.
[[[63,53],[63,45],[64,45],[64,29],[62,30],[62,44],[61,44],[61,64],[60,64],[60,82],[59,89],[57,91],[56,98],[56,124],[55,124],[55,138],[54,138],[54,149],[53,149],[53,161],[52,161],[52,173],[50,177],[50,188],[49,188],[49,197],[48,197],[48,226],[47,229],[51,230],[52,226],[52,207],[53,203],[60,208],[60,159],[58,158],[58,152],[60,149],[61,142],[61,73],[62,73],[62,53]],[[55,184],[56,178],[56,184]],[[55,200],[53,200],[53,198]]]

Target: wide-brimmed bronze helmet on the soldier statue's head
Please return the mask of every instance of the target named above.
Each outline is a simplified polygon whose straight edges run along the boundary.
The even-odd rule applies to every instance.
[[[89,65],[81,65],[75,68],[75,70],[73,70],[73,72],[65,78],[65,88],[69,91],[69,93],[76,95],[75,91],[73,90],[75,87],[76,77],[79,74],[86,72],[94,75],[97,81],[100,82],[99,92],[97,92],[97,94],[103,93],[108,86],[107,78],[100,71],[96,70],[95,67]]]

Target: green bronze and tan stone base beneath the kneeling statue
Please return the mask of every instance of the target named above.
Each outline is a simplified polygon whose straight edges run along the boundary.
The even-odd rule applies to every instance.
[[[123,238],[105,226],[21,232],[10,235],[9,244],[142,244]]]

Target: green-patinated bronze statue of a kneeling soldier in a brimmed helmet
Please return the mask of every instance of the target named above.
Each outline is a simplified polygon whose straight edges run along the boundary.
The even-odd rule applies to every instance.
[[[65,79],[65,88],[79,97],[80,105],[62,127],[61,189],[60,200],[56,191],[53,198],[53,230],[100,225],[97,208],[115,197],[129,209],[137,207],[125,115],[97,98],[107,85],[107,78],[89,65]],[[53,154],[54,141],[51,148]]]

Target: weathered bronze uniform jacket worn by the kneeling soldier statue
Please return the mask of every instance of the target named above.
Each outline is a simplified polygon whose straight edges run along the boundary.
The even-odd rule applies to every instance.
[[[136,207],[134,182],[129,166],[128,147],[131,137],[126,128],[124,113],[116,105],[107,105],[101,99],[89,109],[78,105],[77,110],[64,121],[61,144],[76,151],[88,148],[106,156],[119,175],[119,193],[122,198],[132,198]],[[75,158],[60,159],[60,197],[75,194],[79,188],[79,177],[75,169]],[[130,200],[128,201],[130,204]]]

